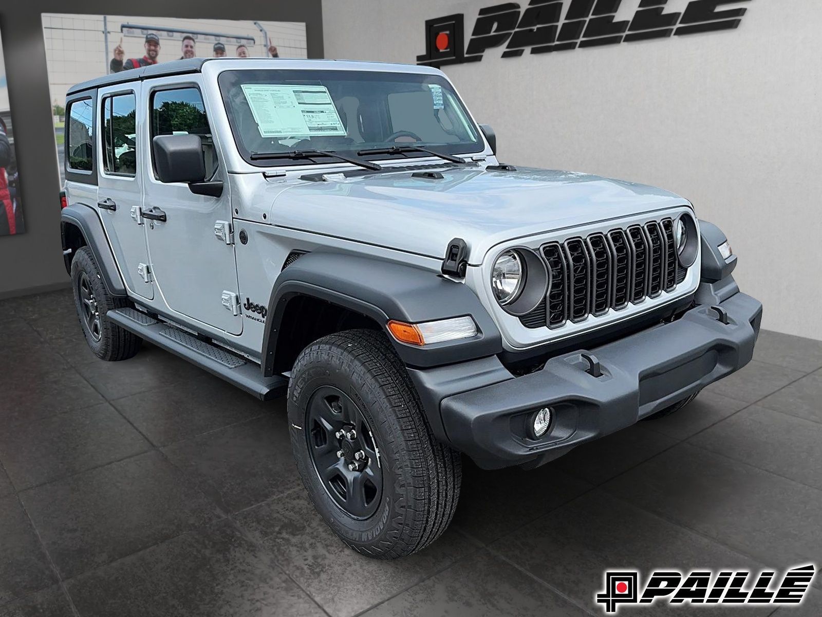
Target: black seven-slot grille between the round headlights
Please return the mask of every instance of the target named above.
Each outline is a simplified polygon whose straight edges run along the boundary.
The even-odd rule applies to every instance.
[[[549,242],[540,248],[550,273],[544,302],[525,327],[557,328],[672,291],[687,269],[677,259],[672,219]]]

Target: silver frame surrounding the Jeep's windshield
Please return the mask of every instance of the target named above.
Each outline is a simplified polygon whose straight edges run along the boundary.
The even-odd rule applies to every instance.
[[[473,132],[476,141],[474,142],[458,142],[453,145],[441,145],[441,144],[429,144],[427,141],[419,141],[419,142],[395,142],[396,146],[413,146],[415,144],[422,144],[424,147],[430,148],[431,150],[441,151],[448,155],[463,155],[467,156],[468,160],[470,160],[470,156],[478,156],[478,155],[485,155],[487,151],[487,144],[485,141],[485,137],[483,131],[479,127],[478,123],[474,120],[473,116],[471,115],[470,110],[464,104],[462,98],[459,96],[459,93],[455,89],[455,87],[450,83],[447,77],[443,74],[436,74],[436,73],[429,73],[429,72],[413,72],[413,71],[399,71],[399,70],[392,70],[392,71],[369,71],[367,69],[357,69],[352,70],[349,68],[334,68],[334,67],[258,67],[258,68],[236,68],[236,69],[229,69],[219,72],[217,77],[217,86],[219,92],[219,99],[222,101],[223,104],[223,111],[225,113],[226,118],[229,121],[229,128],[231,130],[231,135],[233,138],[234,146],[237,149],[238,154],[242,157],[242,160],[245,161],[247,165],[252,165],[255,168],[272,168],[272,167],[302,167],[302,166],[320,166],[320,165],[329,165],[328,160],[311,160],[310,158],[302,159],[302,160],[293,160],[284,158],[282,160],[272,160],[272,159],[257,159],[253,158],[252,154],[254,152],[249,151],[245,142],[242,139],[242,135],[239,134],[237,120],[234,115],[234,110],[232,106],[232,102],[229,97],[229,90],[233,87],[233,84],[227,83],[230,79],[233,79],[238,74],[242,73],[268,73],[271,76],[276,76],[278,73],[320,73],[321,75],[326,75],[327,73],[339,73],[339,77],[344,77],[346,75],[351,74],[359,74],[363,76],[365,80],[373,80],[373,81],[381,81],[385,79],[389,79],[391,77],[417,77],[420,83],[436,83],[442,87],[445,87],[449,94],[452,96],[453,101],[456,105],[459,106],[459,112],[464,115],[464,122],[467,124],[469,131]],[[293,81],[294,77],[288,77],[287,75],[281,78],[284,82],[287,82],[289,79]],[[318,80],[320,77],[318,77]],[[255,83],[255,81],[246,81],[243,80],[241,77],[241,82],[245,83]],[[413,80],[409,80],[413,81]],[[266,82],[268,83],[277,83],[276,77],[269,78],[266,75]],[[261,83],[261,82],[260,82]],[[386,149],[389,148],[392,144],[391,142],[383,142],[380,146],[369,146],[367,145],[369,142],[366,143],[355,143],[350,149],[344,149],[340,147],[335,147],[334,151],[339,151],[344,155],[350,156],[358,156],[359,158],[363,158],[369,161],[407,161],[407,160],[418,160],[423,158],[436,158],[436,156],[428,154],[426,152],[397,152],[393,154],[379,154],[379,155],[358,155],[357,152],[359,150],[369,150],[376,147],[385,147]],[[445,162],[445,161],[443,161]],[[339,163],[335,163],[335,165],[350,165],[349,163],[344,163],[343,161],[339,161]]]

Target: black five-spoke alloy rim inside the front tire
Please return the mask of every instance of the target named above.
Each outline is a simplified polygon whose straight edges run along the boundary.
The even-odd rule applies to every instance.
[[[308,402],[305,427],[326,493],[349,517],[371,517],[382,498],[380,450],[357,404],[339,388],[319,387]]]

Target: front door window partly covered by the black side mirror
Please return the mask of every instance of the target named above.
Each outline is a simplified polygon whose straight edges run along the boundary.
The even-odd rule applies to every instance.
[[[157,90],[151,94],[150,104],[151,138],[157,135],[199,135],[203,144],[205,177],[212,177],[217,170],[217,152],[200,90],[192,87]]]

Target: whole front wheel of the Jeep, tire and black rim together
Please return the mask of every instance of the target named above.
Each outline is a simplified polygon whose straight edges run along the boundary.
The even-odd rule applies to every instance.
[[[288,407],[302,482],[354,550],[396,559],[446,530],[459,498],[459,453],[433,437],[381,332],[339,332],[302,350]]]

